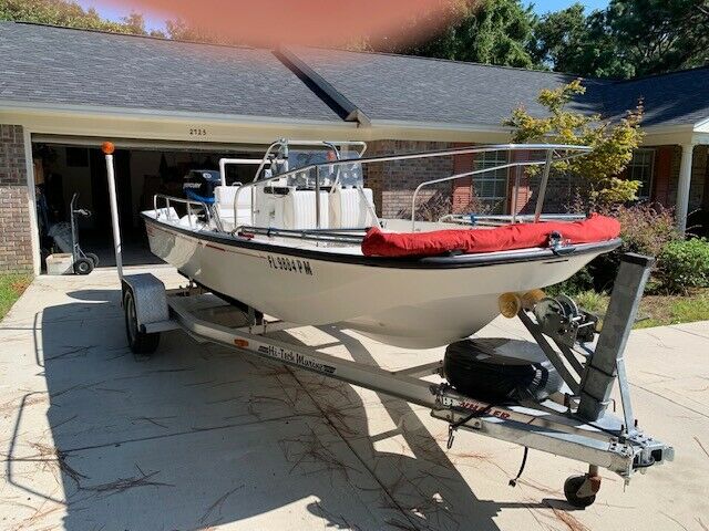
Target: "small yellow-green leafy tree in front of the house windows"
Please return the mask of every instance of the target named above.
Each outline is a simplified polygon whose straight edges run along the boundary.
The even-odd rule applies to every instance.
[[[545,88],[540,92],[537,102],[548,111],[546,117],[532,116],[524,107],[517,107],[504,125],[515,128],[512,140],[515,143],[548,142],[592,147],[593,152],[586,156],[553,166],[554,171],[576,180],[586,206],[606,207],[633,200],[640,183],[619,176],[643,138],[639,129],[643,106],[638,104],[616,123],[604,121],[597,114],[568,111],[567,104],[585,92],[579,80],[554,90]]]

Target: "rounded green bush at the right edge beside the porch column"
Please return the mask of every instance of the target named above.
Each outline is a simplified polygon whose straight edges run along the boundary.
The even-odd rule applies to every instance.
[[[670,293],[709,288],[709,241],[692,238],[667,243],[658,257],[655,277]]]

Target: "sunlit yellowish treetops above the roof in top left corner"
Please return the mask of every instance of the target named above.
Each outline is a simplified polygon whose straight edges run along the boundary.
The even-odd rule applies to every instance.
[[[122,22],[104,20],[93,9],[69,0],[0,0],[0,20],[38,22],[88,30],[145,35],[143,15],[132,12]]]

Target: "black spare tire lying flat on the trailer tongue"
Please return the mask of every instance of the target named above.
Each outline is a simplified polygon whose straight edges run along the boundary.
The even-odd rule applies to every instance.
[[[543,354],[530,360],[530,345],[534,344],[506,339],[452,343],[443,358],[445,379],[460,393],[490,403],[545,400],[564,381]],[[524,357],[512,357],[515,350]]]

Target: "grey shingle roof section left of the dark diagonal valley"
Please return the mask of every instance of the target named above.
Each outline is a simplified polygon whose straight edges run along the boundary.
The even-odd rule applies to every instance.
[[[14,22],[0,100],[341,122],[268,50]]]

